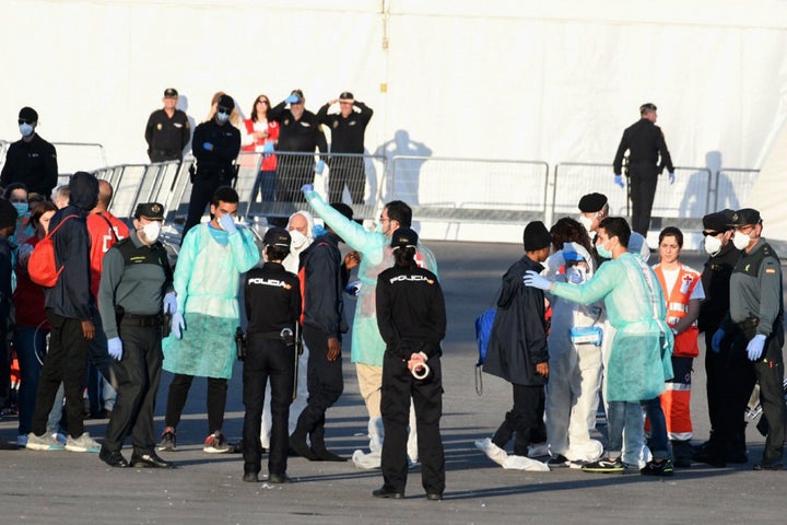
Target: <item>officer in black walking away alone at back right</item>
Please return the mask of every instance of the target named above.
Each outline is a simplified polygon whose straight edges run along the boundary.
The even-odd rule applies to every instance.
[[[650,210],[656,197],[658,176],[667,166],[670,184],[674,180],[674,166],[665,142],[661,128],[656,126],[656,105],[639,106],[642,118],[623,131],[615,153],[613,167],[615,184],[623,187],[623,154],[629,150],[629,185],[632,200],[632,231],[647,236],[650,228]],[[659,156],[661,162],[659,163]]]

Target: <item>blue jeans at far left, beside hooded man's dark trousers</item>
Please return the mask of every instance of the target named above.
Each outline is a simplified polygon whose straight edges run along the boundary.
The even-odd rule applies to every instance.
[[[27,435],[31,432],[33,410],[35,409],[38,376],[40,376],[42,362],[46,355],[46,336],[48,329],[16,326],[14,331],[14,349],[20,363],[20,392],[19,392],[19,433]]]

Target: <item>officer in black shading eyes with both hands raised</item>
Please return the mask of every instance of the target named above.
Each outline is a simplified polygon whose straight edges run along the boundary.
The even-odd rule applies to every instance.
[[[331,105],[339,103],[339,113],[328,114]],[[359,110],[356,112],[355,108]],[[317,119],[330,129],[331,153],[352,153],[363,155],[364,133],[374,110],[363,102],[356,101],[349,91],[320,107]],[[329,159],[330,178],[328,197],[330,202],[341,202],[346,185],[353,205],[364,202],[364,160],[363,156],[337,155]]]

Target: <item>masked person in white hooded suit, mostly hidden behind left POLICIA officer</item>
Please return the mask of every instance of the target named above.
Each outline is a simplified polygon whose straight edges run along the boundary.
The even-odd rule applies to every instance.
[[[314,218],[308,211],[296,211],[290,215],[287,221],[287,231],[292,242],[290,244],[290,254],[284,258],[282,265],[284,269],[295,273],[297,276],[298,261],[301,260],[301,253],[308,248],[314,241]],[[306,399],[308,398],[308,386],[306,384],[306,370],[308,366],[308,348],[306,341],[302,341],[303,353],[298,357],[297,368],[297,395],[290,405],[290,420],[289,428],[290,434],[295,431],[297,424],[297,418],[306,408]],[[271,411],[270,411],[270,383],[266,385],[265,405],[262,407],[262,428],[260,431],[260,441],[265,448],[270,448],[270,432],[271,432]]]

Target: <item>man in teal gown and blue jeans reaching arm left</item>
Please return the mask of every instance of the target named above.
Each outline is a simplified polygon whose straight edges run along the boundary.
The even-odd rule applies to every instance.
[[[672,331],[661,287],[653,270],[637,255],[626,250],[631,230],[622,218],[607,218],[599,224],[596,248],[611,258],[595,277],[579,285],[553,282],[528,272],[525,284],[580,304],[603,300],[615,328],[610,346],[607,374],[608,445],[606,456],[583,466],[589,472],[622,472],[624,428],[641,428],[642,408],[651,422],[653,460],[641,469],[650,476],[671,476],[673,468],[663,411],[658,396],[672,377]],[[635,407],[637,410],[632,410]]]

